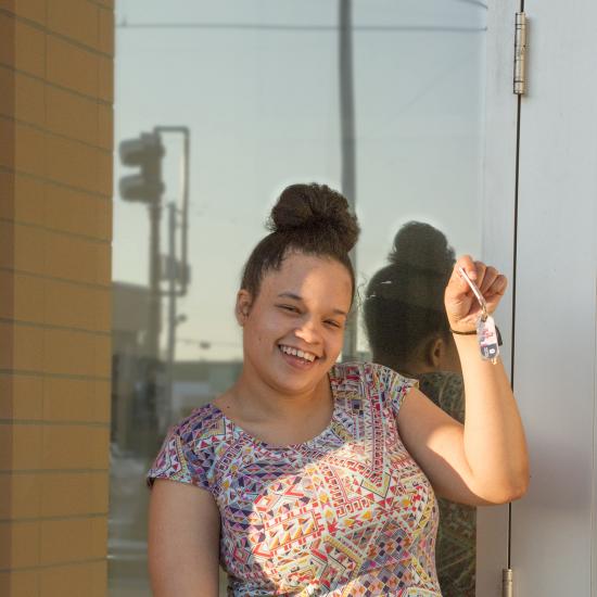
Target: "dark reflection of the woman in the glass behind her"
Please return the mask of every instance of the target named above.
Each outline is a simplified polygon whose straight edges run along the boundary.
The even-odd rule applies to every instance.
[[[419,380],[442,410],[465,422],[460,360],[444,307],[456,262],[446,237],[419,221],[404,225],[389,265],[370,280],[365,325],[374,363]],[[435,563],[444,597],[474,597],[475,508],[439,499]]]

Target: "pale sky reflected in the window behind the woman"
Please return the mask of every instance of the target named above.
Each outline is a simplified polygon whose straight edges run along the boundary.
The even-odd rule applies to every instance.
[[[338,0],[119,0],[116,20],[116,143],[155,126],[191,130],[177,358],[240,358],[234,296],[277,194],[341,187]],[[480,252],[485,23],[477,0],[353,1],[360,284],[411,219],[458,254]],[[177,201],[180,140],[164,143],[164,201]],[[120,199],[118,179],[134,172],[117,151],[114,167],[113,278],[147,284],[148,211]]]

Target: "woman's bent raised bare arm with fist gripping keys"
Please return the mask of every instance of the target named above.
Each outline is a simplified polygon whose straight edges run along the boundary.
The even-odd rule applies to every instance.
[[[490,313],[507,282],[494,268],[469,256],[457,262],[446,288],[446,313],[453,330],[469,332],[481,308],[458,266],[477,282]],[[529,485],[529,457],[504,366],[499,359],[496,365],[482,360],[475,335],[454,338],[465,380],[465,425],[411,390],[398,412],[398,431],[439,495],[472,505],[517,499]]]

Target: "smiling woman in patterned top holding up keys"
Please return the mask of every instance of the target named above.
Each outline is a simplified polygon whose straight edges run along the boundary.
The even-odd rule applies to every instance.
[[[218,563],[234,596],[440,596],[435,493],[474,505],[524,493],[516,403],[474,338],[455,338],[465,425],[388,367],[338,364],[357,237],[325,186],[289,187],[274,207],[237,296],[242,373],[170,431],[149,472],[157,597],[215,597]],[[505,278],[457,265],[493,312]],[[456,274],[445,305],[452,329],[473,327],[479,308]]]

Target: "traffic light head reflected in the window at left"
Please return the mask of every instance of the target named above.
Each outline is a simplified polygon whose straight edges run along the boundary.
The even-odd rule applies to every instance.
[[[137,139],[120,142],[120,162],[125,166],[140,166],[140,174],[120,178],[120,196],[127,201],[158,202],[164,192],[162,157],[164,145],[156,132],[142,132]]]

